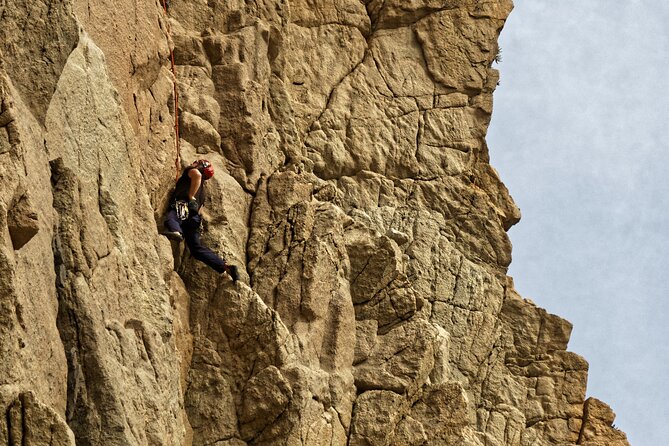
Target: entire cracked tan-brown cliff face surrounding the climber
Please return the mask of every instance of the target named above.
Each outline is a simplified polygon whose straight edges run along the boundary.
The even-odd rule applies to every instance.
[[[0,445],[627,445],[506,276],[511,9],[0,1]],[[236,284],[159,235],[175,81]]]

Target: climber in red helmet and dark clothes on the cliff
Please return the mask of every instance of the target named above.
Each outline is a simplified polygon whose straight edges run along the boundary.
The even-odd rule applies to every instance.
[[[202,245],[200,208],[206,200],[205,183],[214,176],[214,167],[207,160],[195,160],[186,167],[174,187],[170,208],[165,217],[163,235],[180,242],[186,240],[191,255],[219,273],[227,272],[233,281],[239,279],[237,266],[228,265],[211,249]]]

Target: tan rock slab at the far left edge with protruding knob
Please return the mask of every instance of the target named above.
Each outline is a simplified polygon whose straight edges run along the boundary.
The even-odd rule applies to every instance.
[[[0,96],[4,115],[11,114],[0,128],[7,136],[0,153],[0,385],[33,392],[64,418],[67,365],[56,327],[55,219],[44,137],[2,69]]]

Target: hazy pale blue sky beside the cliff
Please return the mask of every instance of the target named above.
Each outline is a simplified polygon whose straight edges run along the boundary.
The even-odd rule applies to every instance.
[[[488,132],[509,275],[574,324],[630,444],[669,444],[669,1],[514,3]]]

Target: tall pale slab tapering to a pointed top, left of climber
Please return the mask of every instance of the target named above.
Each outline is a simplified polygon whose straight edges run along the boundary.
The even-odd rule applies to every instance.
[[[151,221],[152,210],[132,162],[136,141],[103,54],[86,35],[63,70],[46,123],[56,158],[45,174],[58,214],[53,255],[67,421],[81,442],[180,444],[166,265],[157,235],[138,224]]]

